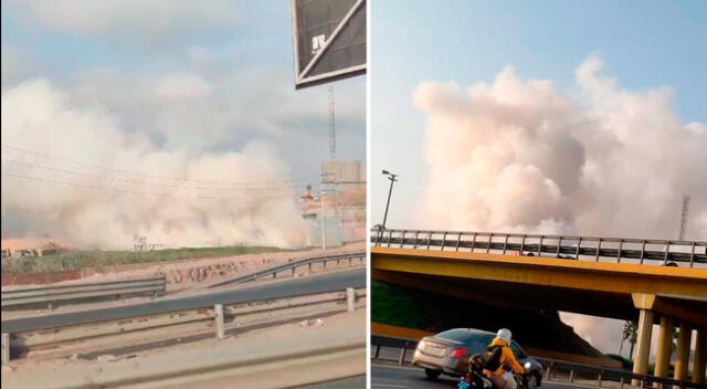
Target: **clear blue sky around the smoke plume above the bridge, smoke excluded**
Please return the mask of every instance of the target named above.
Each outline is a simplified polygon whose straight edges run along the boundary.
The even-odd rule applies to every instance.
[[[372,2],[371,223],[382,221],[387,169],[400,175],[388,227],[425,228],[414,211],[429,183],[425,115],[411,97],[421,81],[465,87],[513,65],[572,94],[576,67],[598,53],[622,86],[668,85],[683,122],[707,123],[706,25],[699,0]]]

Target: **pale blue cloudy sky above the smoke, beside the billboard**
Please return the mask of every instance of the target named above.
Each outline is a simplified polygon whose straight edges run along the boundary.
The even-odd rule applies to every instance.
[[[244,123],[245,128],[230,124],[222,138],[211,141],[194,139],[208,137],[199,134],[204,129],[184,129],[193,137],[175,140],[179,147],[196,140],[199,147],[229,148],[242,144],[239,138],[245,133],[276,140],[278,151],[294,165],[293,170],[318,175],[328,145],[327,88],[293,87],[288,1],[219,0],[207,10],[199,1],[150,3],[3,0],[3,88],[43,77],[66,88],[105,86],[104,98],[117,99],[117,93],[137,95],[140,82],[169,74],[196,75],[212,83],[230,78],[236,84],[217,86],[214,92],[238,96],[255,109],[249,116],[262,116],[265,123]],[[81,12],[70,12],[73,9]],[[102,18],[105,22],[98,21]],[[117,85],[126,78],[135,85]],[[97,85],[102,82],[105,84]],[[365,77],[335,83],[337,90],[340,158],[361,159]],[[294,104],[299,106],[278,112]],[[295,112],[299,107],[303,109]],[[302,153],[303,148],[308,151]]]

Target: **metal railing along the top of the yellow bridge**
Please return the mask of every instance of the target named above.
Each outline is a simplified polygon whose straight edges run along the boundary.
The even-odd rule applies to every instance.
[[[707,264],[707,242],[654,239],[542,235],[497,232],[373,229],[376,246],[419,250],[517,253],[526,256],[620,263]]]

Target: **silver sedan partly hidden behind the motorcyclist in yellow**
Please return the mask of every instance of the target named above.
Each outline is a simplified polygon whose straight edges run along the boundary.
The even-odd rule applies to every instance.
[[[436,379],[441,374],[458,377],[468,371],[468,358],[473,354],[484,353],[496,334],[474,328],[454,328],[425,336],[418,343],[412,364],[424,369],[428,377]],[[510,350],[516,360],[526,368],[527,387],[540,386],[542,366],[518,346],[510,341]]]

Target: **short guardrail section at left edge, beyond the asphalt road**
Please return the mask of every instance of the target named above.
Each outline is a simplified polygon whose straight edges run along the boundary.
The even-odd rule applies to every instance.
[[[150,294],[155,297],[165,293],[165,277],[131,278],[81,283],[71,285],[46,285],[13,287],[2,290],[2,308],[33,304],[46,304],[52,309],[53,303],[115,298],[128,295]]]

